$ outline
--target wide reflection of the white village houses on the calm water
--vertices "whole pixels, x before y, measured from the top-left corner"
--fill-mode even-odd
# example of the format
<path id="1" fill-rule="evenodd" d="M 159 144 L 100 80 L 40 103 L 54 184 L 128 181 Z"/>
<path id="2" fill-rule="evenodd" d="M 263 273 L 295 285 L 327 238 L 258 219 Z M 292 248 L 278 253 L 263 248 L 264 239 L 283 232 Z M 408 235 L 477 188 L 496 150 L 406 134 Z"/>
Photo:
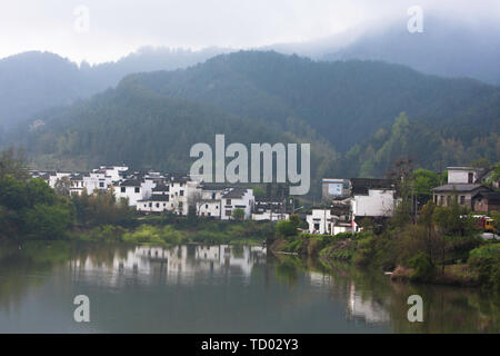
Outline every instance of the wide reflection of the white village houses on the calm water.
<path id="1" fill-rule="evenodd" d="M 146 284 L 193 284 L 203 275 L 228 274 L 249 283 L 252 268 L 266 264 L 266 248 L 260 246 L 139 246 L 111 253 L 106 260 L 91 256 L 72 259 L 68 267 L 77 280 L 106 275 L 102 283 L 111 286 L 130 279 Z"/>

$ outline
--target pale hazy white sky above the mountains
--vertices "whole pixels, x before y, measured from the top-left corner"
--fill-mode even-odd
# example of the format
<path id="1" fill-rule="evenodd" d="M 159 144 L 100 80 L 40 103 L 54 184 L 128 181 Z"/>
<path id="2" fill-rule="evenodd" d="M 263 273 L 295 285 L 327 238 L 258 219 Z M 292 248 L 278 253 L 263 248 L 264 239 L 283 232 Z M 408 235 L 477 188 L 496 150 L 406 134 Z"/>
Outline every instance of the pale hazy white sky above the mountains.
<path id="1" fill-rule="evenodd" d="M 0 58 L 48 50 L 116 60 L 142 46 L 256 48 L 424 16 L 500 20 L 499 0 L 14 0 L 0 4 Z M 88 23 L 86 13 L 88 11 Z"/>

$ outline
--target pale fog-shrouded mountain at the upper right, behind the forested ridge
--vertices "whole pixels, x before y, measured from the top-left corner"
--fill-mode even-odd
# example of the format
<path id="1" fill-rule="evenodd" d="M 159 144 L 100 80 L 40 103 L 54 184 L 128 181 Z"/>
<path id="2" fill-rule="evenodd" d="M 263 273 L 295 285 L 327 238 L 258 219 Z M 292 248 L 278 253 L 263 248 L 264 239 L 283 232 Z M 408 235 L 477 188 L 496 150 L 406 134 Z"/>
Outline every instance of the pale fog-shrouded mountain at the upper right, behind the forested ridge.
<path id="1" fill-rule="evenodd" d="M 498 23 L 424 17 L 423 32 L 410 33 L 407 23 L 400 21 L 388 28 L 369 29 L 344 46 L 339 46 L 338 38 L 330 44 L 323 40 L 314 47 L 314 53 L 323 60 L 382 60 L 424 73 L 470 77 L 500 85 Z"/>

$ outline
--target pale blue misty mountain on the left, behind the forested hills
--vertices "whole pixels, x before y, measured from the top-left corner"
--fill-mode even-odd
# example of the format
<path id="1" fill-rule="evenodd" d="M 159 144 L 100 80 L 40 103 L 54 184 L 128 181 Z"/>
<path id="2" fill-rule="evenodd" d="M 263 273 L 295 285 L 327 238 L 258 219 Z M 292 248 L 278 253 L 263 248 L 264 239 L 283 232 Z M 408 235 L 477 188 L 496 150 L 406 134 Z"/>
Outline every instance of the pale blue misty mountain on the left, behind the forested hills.
<path id="1" fill-rule="evenodd" d="M 226 51 L 144 47 L 116 62 L 96 66 L 82 62 L 80 67 L 58 55 L 39 51 L 1 59 L 0 129 L 12 128 L 24 120 L 33 121 L 41 110 L 70 105 L 114 87 L 129 73 L 184 68 Z"/>

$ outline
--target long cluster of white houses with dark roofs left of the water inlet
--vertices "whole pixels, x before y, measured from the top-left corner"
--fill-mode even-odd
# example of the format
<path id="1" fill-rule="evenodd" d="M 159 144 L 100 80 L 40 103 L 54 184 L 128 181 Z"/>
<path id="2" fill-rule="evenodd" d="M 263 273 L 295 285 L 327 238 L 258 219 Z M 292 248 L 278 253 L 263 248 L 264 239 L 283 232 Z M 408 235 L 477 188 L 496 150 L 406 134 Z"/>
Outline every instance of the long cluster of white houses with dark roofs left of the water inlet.
<path id="1" fill-rule="evenodd" d="M 266 219 L 272 212 L 261 209 L 253 189 L 249 187 L 204 184 L 188 175 L 158 171 L 131 171 L 126 166 L 101 166 L 89 172 L 31 171 L 33 178 L 44 179 L 50 187 L 68 195 L 112 191 L 117 200 L 127 199 L 129 206 L 143 214 L 170 211 L 188 215 L 189 207 L 197 215 L 221 220 L 233 218 L 234 209 L 244 212 L 244 219 Z M 254 212 L 253 208 L 258 211 Z M 252 214 L 254 212 L 254 214 Z M 283 218 L 288 218 L 288 215 Z"/>

